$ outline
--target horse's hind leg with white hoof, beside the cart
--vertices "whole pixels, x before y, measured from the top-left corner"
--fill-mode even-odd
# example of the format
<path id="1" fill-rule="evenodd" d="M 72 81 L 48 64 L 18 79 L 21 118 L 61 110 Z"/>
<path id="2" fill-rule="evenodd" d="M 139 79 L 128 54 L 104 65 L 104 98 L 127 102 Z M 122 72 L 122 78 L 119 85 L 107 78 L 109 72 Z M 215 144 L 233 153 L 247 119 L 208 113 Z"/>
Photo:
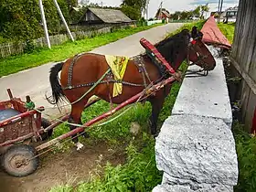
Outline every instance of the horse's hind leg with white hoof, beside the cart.
<path id="1" fill-rule="evenodd" d="M 69 123 L 77 123 L 77 124 L 81 124 L 81 121 L 80 121 L 80 116 L 81 116 L 81 112 L 83 111 L 83 108 L 84 108 L 84 105 L 82 105 L 80 102 L 78 103 L 75 103 L 72 105 L 72 108 L 71 108 L 71 113 L 69 115 L 69 120 L 68 122 Z M 75 125 L 69 125 L 69 129 L 70 131 L 76 129 L 77 127 Z M 85 135 L 86 133 L 82 133 L 83 135 Z M 80 144 L 79 142 L 79 138 L 77 136 L 77 133 L 76 134 L 73 134 L 71 136 L 72 138 L 72 142 L 74 144 L 76 144 L 77 146 L 77 150 L 80 150 L 80 148 L 83 147 L 83 144 Z"/>

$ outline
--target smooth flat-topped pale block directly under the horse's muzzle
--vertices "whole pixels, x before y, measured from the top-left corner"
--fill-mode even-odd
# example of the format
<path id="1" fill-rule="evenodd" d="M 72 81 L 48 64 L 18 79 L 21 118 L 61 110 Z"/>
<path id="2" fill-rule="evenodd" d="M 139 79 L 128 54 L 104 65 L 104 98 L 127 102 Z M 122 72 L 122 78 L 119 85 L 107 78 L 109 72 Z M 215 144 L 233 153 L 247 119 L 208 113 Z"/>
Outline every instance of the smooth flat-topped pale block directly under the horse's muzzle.
<path id="1" fill-rule="evenodd" d="M 187 76 L 183 80 L 172 115 L 192 114 L 218 118 L 231 128 L 232 112 L 223 63 L 221 59 L 216 59 L 216 63 L 216 68 L 209 71 L 208 76 Z M 190 66 L 188 69 L 196 71 L 199 68 Z"/>

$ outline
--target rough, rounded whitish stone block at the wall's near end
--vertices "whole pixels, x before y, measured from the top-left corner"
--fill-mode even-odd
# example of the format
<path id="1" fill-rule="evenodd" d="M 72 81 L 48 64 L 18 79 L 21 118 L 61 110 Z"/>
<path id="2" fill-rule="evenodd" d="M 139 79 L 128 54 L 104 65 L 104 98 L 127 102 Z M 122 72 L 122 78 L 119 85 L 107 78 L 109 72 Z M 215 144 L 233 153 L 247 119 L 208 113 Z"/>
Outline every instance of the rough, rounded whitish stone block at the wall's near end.
<path id="1" fill-rule="evenodd" d="M 238 163 L 231 131 L 221 119 L 172 115 L 156 137 L 155 159 L 172 185 L 236 186 Z"/>

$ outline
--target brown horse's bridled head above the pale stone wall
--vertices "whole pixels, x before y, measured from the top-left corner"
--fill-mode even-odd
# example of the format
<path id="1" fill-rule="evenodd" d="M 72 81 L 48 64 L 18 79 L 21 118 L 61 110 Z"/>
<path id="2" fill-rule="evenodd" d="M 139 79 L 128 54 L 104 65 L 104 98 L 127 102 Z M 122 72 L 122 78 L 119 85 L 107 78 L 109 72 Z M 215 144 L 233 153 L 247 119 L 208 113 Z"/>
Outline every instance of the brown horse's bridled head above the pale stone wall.
<path id="1" fill-rule="evenodd" d="M 213 70 L 216 66 L 216 61 L 212 54 L 202 42 L 203 33 L 197 30 L 197 27 L 192 27 L 189 34 L 187 59 L 192 61 L 192 64 L 203 68 L 204 70 Z"/>

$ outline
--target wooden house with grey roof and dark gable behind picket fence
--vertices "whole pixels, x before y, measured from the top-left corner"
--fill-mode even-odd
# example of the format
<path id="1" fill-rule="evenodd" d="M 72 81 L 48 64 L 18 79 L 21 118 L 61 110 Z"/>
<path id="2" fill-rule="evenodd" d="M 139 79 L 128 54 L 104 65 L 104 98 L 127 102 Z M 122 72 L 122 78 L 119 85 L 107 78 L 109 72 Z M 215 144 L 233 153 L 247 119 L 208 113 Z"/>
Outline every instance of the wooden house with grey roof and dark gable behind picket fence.
<path id="1" fill-rule="evenodd" d="M 131 22 L 131 18 L 125 16 L 120 10 L 89 7 L 84 15 L 80 17 L 79 24 L 119 24 Z"/>

